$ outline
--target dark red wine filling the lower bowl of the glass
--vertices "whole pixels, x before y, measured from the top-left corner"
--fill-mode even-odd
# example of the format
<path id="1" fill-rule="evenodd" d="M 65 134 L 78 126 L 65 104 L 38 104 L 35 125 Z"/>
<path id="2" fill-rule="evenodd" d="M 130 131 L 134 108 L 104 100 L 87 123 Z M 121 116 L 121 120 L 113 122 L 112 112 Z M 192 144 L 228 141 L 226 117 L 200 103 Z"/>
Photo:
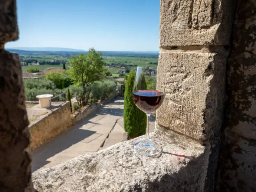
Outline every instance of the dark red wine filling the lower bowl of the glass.
<path id="1" fill-rule="evenodd" d="M 135 105 L 145 113 L 152 113 L 160 107 L 164 93 L 158 90 L 137 90 L 133 92 Z"/>

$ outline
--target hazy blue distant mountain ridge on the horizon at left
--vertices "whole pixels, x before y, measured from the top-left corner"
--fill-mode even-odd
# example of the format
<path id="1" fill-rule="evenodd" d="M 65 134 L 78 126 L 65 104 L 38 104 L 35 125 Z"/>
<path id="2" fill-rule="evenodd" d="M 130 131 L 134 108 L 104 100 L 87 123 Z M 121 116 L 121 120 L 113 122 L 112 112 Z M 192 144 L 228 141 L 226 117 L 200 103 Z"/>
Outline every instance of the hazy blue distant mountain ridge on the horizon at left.
<path id="1" fill-rule="evenodd" d="M 7 50 L 23 50 L 23 51 L 50 51 L 50 52 L 84 52 L 82 49 L 70 49 L 61 47 L 12 47 Z"/>

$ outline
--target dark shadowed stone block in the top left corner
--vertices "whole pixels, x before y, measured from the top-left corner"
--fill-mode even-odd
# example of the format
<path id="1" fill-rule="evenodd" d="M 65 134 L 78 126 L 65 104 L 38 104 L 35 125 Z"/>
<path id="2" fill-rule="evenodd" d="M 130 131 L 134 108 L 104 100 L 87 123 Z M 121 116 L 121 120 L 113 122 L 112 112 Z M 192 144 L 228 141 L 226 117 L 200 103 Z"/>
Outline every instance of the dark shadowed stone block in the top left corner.
<path id="1" fill-rule="evenodd" d="M 16 0 L 1 0 L 0 2 L 0 44 L 19 38 Z"/>

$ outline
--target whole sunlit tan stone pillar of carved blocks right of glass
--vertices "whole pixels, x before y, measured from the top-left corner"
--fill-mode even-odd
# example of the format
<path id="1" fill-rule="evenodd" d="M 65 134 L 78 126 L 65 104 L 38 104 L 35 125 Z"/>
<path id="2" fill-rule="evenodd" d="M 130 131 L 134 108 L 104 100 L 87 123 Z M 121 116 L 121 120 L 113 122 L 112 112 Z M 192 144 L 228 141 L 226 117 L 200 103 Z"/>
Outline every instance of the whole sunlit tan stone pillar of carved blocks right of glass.
<path id="1" fill-rule="evenodd" d="M 200 181 L 207 192 L 214 191 L 233 7 L 232 0 L 161 0 L 157 87 L 165 100 L 156 131 L 209 149 Z"/>

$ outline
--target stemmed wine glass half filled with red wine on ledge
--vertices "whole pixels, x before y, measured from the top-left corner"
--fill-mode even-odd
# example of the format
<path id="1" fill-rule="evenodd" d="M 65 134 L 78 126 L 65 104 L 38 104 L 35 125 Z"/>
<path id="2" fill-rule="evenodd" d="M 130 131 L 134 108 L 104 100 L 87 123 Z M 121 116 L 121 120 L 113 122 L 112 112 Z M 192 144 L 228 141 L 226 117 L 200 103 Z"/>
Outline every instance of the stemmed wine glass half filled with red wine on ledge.
<path id="1" fill-rule="evenodd" d="M 157 69 L 155 67 L 138 66 L 133 86 L 133 100 L 135 105 L 147 115 L 147 136 L 145 140 L 134 144 L 136 153 L 143 156 L 160 155 L 162 148 L 149 138 L 150 114 L 163 103 L 164 92 L 156 89 Z"/>

